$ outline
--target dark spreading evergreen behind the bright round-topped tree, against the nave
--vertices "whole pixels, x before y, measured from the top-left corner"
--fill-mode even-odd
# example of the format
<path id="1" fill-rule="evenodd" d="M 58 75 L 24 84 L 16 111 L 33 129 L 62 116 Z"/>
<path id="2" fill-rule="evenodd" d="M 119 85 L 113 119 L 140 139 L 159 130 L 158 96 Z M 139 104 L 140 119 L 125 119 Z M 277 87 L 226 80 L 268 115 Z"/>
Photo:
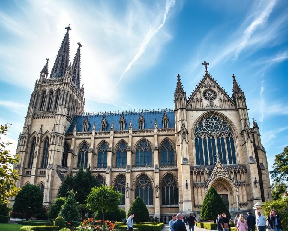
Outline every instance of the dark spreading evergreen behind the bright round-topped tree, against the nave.
<path id="1" fill-rule="evenodd" d="M 80 168 L 75 176 L 68 174 L 58 190 L 58 196 L 67 197 L 70 190 L 76 192 L 75 199 L 80 204 L 86 204 L 86 198 L 91 188 L 99 186 L 99 183 L 92 174 L 90 167 Z"/>

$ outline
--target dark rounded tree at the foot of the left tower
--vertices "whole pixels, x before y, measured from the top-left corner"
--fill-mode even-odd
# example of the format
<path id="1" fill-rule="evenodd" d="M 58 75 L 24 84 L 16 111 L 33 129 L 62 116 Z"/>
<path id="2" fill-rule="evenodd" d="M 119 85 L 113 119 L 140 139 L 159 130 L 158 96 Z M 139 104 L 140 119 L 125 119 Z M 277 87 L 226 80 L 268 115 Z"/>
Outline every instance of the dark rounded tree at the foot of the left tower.
<path id="1" fill-rule="evenodd" d="M 28 220 L 32 215 L 40 212 L 43 204 L 43 193 L 34 184 L 26 184 L 15 197 L 13 212 L 26 213 Z"/>

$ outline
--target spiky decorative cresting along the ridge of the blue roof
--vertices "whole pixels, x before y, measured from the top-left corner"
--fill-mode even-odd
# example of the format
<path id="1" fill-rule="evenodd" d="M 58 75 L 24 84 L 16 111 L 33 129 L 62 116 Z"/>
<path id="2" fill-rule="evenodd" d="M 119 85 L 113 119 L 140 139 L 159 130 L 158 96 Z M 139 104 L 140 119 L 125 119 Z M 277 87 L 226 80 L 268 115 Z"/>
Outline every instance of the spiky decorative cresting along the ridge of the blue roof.
<path id="1" fill-rule="evenodd" d="M 81 114 L 76 114 L 75 116 L 103 116 L 103 115 L 121 115 L 123 114 L 135 114 L 135 113 L 161 113 L 161 112 L 174 112 L 173 108 L 166 109 L 137 109 L 137 110 L 121 110 L 121 111 L 103 111 L 103 112 L 86 112 Z"/>

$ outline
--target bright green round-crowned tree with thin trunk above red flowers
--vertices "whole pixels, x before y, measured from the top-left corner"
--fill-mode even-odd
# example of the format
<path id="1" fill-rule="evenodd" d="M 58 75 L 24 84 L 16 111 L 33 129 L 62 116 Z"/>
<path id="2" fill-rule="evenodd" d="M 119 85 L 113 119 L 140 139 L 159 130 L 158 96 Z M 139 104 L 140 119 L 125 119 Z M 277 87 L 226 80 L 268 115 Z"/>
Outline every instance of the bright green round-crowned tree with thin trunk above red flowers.
<path id="1" fill-rule="evenodd" d="M 87 205 L 91 211 L 102 212 L 103 229 L 105 230 L 105 213 L 114 212 L 121 204 L 122 194 L 111 186 L 92 188 L 87 197 Z"/>

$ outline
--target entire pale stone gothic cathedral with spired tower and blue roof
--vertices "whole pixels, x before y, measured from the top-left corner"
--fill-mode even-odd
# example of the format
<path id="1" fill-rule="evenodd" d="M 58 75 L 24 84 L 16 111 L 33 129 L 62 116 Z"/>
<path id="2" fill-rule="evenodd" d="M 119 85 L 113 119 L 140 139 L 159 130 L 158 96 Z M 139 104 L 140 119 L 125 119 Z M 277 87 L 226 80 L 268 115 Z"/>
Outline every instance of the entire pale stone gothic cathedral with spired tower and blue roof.
<path id="1" fill-rule="evenodd" d="M 250 127 L 234 74 L 232 97 L 203 62 L 188 98 L 177 75 L 174 109 L 84 113 L 82 45 L 71 64 L 65 29 L 51 74 L 47 59 L 31 95 L 16 151 L 18 187 L 39 186 L 51 204 L 67 174 L 90 166 L 99 183 L 122 193 L 126 212 L 140 196 L 151 216 L 193 212 L 199 219 L 211 186 L 231 215 L 272 199 L 259 128 L 254 118 Z"/>

